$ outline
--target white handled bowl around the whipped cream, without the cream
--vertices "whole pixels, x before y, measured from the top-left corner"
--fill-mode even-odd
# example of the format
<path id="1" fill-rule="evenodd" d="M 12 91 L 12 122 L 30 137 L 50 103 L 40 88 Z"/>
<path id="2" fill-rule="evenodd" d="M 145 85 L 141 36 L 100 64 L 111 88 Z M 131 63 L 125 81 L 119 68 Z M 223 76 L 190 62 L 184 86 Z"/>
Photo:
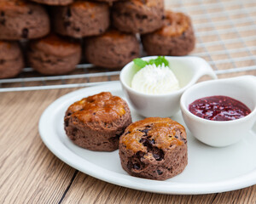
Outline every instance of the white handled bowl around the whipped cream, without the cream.
<path id="1" fill-rule="evenodd" d="M 155 59 L 145 57 L 143 60 Z M 202 76 L 217 78 L 207 61 L 198 57 L 167 57 L 172 71 L 180 83 L 181 89 L 170 94 L 143 94 L 131 88 L 131 80 L 136 74 L 134 63 L 131 62 L 122 69 L 120 82 L 131 105 L 142 116 L 173 116 L 179 111 L 179 100 L 183 92 L 191 87 Z"/>

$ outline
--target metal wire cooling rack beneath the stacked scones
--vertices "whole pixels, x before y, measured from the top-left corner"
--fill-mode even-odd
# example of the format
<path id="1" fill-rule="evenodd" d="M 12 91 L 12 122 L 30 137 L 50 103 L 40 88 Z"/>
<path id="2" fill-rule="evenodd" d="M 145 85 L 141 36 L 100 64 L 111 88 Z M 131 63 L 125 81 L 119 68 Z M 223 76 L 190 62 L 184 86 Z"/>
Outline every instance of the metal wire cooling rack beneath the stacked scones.
<path id="1" fill-rule="evenodd" d="M 219 77 L 256 75 L 256 1 L 166 0 L 166 8 L 191 16 L 197 44 L 190 55 L 206 59 Z M 25 68 L 19 77 L 0 80 L 0 92 L 89 87 L 114 80 L 119 80 L 119 71 L 90 64 L 54 77 Z"/>

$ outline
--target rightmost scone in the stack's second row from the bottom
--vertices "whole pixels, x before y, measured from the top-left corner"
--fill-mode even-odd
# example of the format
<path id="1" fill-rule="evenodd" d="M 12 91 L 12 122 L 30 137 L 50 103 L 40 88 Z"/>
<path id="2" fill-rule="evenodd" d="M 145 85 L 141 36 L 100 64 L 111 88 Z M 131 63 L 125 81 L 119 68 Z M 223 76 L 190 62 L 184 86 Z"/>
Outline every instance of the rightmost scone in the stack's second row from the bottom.
<path id="1" fill-rule="evenodd" d="M 148 33 L 164 25 L 163 0 L 130 0 L 113 3 L 113 26 L 119 31 Z"/>

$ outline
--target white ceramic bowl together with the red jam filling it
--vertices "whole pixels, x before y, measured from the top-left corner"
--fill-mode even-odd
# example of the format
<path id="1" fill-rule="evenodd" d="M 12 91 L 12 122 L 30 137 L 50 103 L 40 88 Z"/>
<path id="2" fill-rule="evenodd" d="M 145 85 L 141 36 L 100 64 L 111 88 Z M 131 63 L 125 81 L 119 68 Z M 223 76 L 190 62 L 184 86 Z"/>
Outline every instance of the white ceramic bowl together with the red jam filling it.
<path id="1" fill-rule="evenodd" d="M 200 82 L 183 93 L 180 107 L 196 139 L 217 147 L 235 144 L 256 122 L 256 77 Z"/>

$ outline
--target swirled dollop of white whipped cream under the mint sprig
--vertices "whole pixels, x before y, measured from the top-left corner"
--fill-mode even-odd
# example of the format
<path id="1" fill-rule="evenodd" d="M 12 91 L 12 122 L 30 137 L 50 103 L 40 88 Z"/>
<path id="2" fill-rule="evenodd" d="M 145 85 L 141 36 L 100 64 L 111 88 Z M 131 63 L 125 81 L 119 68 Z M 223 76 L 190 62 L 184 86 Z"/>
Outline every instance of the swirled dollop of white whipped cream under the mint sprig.
<path id="1" fill-rule="evenodd" d="M 164 64 L 146 65 L 132 78 L 131 88 L 144 94 L 168 94 L 180 89 L 177 77 Z"/>

